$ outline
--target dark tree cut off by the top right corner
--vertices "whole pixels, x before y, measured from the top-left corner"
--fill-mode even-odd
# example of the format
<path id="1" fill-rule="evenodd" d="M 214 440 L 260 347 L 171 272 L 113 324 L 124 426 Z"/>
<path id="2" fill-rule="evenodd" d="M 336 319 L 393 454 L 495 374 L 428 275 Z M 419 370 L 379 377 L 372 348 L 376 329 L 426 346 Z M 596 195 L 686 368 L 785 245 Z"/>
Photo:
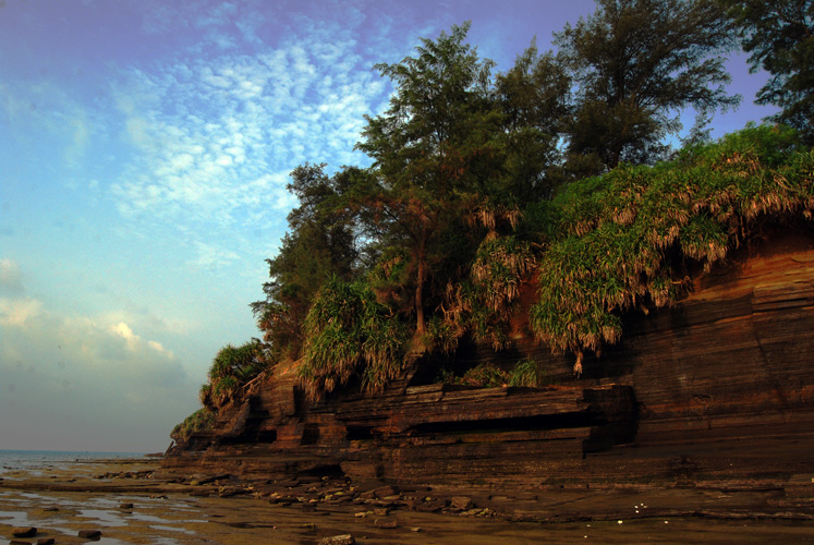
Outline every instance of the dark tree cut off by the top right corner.
<path id="1" fill-rule="evenodd" d="M 772 77 L 757 104 L 782 111 L 775 119 L 801 131 L 814 143 L 814 1 L 725 0 L 739 27 L 752 72 Z"/>

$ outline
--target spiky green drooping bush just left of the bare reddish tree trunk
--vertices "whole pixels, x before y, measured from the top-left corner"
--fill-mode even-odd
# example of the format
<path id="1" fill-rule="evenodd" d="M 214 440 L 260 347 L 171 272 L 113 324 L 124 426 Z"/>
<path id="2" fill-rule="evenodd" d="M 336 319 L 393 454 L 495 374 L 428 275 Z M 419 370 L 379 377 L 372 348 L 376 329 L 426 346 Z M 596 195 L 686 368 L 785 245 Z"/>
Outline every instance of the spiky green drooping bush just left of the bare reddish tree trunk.
<path id="1" fill-rule="evenodd" d="M 325 282 L 304 329 L 297 375 L 312 398 L 354 376 L 361 376 L 364 390 L 379 392 L 402 371 L 408 329 L 364 282 L 336 277 Z"/>

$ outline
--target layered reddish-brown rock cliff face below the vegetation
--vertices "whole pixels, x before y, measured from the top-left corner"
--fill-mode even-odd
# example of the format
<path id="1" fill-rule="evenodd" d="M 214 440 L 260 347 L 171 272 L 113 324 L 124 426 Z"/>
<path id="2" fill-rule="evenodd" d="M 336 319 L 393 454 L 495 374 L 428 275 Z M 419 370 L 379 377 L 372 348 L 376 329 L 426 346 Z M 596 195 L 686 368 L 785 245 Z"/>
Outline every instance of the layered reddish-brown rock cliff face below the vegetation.
<path id="1" fill-rule="evenodd" d="M 427 384 L 439 361 L 425 359 L 384 396 L 309 403 L 280 373 L 222 411 L 216 433 L 171 448 L 165 468 L 507 494 L 563 483 L 788 483 L 812 471 L 811 230 L 736 252 L 673 307 L 627 316 L 624 331 L 583 363 L 581 378 L 529 336 L 505 352 L 455 354 L 458 366 L 544 361 L 557 385 L 540 389 Z"/>

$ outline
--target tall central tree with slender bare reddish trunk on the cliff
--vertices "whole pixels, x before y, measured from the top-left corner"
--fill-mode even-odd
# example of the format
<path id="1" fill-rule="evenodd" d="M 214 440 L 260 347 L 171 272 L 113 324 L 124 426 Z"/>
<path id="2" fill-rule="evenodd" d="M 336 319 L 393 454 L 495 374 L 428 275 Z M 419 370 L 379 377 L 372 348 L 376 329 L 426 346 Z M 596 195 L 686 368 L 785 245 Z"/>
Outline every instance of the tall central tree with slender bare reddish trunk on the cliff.
<path id="1" fill-rule="evenodd" d="M 356 185 L 356 203 L 379 226 L 386 245 L 409 249 L 420 334 L 430 262 L 442 254 L 435 243 L 499 168 L 491 142 L 500 121 L 490 92 L 493 62 L 464 44 L 469 27 L 422 39 L 416 57 L 375 66 L 396 84 L 396 94 L 384 114 L 367 118 L 356 146 L 374 160 Z"/>

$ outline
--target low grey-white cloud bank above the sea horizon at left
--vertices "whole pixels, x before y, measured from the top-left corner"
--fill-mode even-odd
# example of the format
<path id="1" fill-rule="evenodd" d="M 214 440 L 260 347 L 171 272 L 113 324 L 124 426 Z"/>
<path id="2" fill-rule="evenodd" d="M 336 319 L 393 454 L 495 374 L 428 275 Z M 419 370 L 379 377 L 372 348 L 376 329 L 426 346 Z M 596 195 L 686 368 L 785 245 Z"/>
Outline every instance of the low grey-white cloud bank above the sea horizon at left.
<path id="1" fill-rule="evenodd" d="M 23 448 L 157 450 L 197 404 L 181 362 L 123 320 L 0 299 L 0 435 Z"/>

